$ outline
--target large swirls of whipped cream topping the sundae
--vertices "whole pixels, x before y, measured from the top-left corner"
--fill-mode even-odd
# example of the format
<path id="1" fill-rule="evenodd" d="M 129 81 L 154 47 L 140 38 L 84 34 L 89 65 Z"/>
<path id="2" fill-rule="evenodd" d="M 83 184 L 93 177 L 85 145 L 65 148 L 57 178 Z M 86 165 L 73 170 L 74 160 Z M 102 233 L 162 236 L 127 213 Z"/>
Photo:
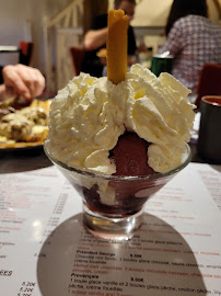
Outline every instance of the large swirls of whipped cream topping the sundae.
<path id="1" fill-rule="evenodd" d="M 53 100 L 47 147 L 70 167 L 113 174 L 109 151 L 126 130 L 135 132 L 150 144 L 148 164 L 167 172 L 182 163 L 190 139 L 195 105 L 189 93 L 171 75 L 156 78 L 140 65 L 118 84 L 81 73 Z"/>

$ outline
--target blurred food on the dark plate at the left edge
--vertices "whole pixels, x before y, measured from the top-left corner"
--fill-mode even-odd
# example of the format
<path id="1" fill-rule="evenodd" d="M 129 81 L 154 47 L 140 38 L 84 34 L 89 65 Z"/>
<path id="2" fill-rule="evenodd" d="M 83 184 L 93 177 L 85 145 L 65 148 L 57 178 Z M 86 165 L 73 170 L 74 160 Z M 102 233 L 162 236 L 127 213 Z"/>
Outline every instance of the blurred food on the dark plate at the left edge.
<path id="1" fill-rule="evenodd" d="M 48 135 L 51 100 L 14 98 L 0 103 L 0 151 L 42 147 Z"/>

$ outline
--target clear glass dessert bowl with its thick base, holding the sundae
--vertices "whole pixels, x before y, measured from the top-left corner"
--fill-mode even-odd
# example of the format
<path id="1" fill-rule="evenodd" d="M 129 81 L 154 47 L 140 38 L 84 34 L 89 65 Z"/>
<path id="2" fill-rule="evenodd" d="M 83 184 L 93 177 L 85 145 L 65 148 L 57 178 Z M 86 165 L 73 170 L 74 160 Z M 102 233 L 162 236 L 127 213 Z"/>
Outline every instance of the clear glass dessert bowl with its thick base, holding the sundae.
<path id="1" fill-rule="evenodd" d="M 130 239 L 142 224 L 143 205 L 190 161 L 186 145 L 183 163 L 166 173 L 141 177 L 102 175 L 68 167 L 45 152 L 77 189 L 83 200 L 83 223 L 94 236 L 109 240 Z"/>

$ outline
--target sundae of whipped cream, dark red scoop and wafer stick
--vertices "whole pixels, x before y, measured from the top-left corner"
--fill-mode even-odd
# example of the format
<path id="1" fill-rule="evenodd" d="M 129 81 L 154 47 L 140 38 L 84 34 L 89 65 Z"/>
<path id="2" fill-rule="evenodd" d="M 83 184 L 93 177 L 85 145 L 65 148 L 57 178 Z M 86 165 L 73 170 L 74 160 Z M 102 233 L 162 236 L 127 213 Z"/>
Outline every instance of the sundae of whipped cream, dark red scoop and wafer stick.
<path id="1" fill-rule="evenodd" d="M 127 72 L 126 18 L 109 12 L 107 77 L 81 72 L 53 100 L 45 144 L 83 195 L 88 216 L 107 219 L 139 213 L 188 163 L 195 116 L 190 91 L 171 75 L 158 78 L 140 65 Z"/>

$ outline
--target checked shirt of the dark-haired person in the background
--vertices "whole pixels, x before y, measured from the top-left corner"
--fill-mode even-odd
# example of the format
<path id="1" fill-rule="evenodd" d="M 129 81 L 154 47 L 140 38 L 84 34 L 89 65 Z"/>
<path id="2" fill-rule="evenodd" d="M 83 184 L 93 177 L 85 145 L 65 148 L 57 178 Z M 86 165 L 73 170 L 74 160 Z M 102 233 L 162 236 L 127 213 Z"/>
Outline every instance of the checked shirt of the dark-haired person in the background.
<path id="1" fill-rule="evenodd" d="M 200 15 L 181 18 L 159 53 L 166 50 L 174 56 L 172 75 L 195 92 L 202 65 L 221 64 L 221 25 Z"/>

